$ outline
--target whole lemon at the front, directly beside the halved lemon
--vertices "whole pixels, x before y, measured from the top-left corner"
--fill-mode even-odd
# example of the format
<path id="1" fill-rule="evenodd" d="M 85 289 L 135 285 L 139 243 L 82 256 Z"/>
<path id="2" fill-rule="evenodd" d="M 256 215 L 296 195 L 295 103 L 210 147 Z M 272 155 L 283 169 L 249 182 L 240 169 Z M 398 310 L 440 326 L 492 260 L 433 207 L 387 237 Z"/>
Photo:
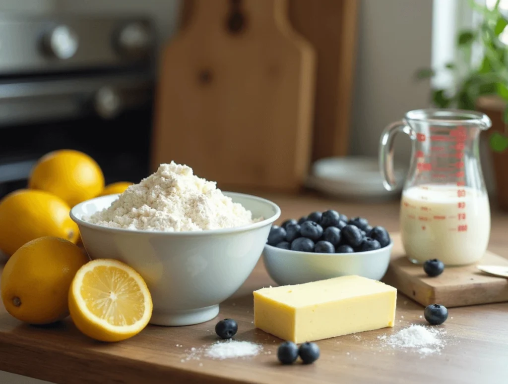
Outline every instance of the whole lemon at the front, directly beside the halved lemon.
<path id="1" fill-rule="evenodd" d="M 49 324 L 67 317 L 69 288 L 87 261 L 84 251 L 58 237 L 27 242 L 2 272 L 0 290 L 7 311 L 30 324 Z"/>

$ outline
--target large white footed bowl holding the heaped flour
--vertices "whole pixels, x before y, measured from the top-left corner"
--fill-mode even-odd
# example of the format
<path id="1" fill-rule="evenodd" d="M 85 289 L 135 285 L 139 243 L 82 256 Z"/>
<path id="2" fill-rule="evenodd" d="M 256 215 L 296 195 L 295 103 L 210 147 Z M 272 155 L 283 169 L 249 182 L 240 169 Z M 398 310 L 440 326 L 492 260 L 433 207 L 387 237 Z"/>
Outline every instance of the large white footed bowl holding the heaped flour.
<path id="1" fill-rule="evenodd" d="M 118 195 L 82 202 L 72 208 L 71 218 L 92 259 L 117 259 L 143 276 L 152 295 L 151 324 L 198 324 L 217 316 L 219 303 L 245 282 L 263 252 L 271 224 L 280 216 L 280 208 L 271 201 L 224 194 L 265 220 L 192 232 L 108 228 L 82 220 L 110 206 Z"/>

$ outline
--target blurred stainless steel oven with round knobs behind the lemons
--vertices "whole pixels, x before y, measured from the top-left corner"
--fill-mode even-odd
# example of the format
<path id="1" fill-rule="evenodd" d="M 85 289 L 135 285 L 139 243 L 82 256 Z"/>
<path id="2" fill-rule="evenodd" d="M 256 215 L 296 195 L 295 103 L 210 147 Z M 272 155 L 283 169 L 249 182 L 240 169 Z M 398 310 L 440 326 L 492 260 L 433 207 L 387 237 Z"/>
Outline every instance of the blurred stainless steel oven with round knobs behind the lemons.
<path id="1" fill-rule="evenodd" d="M 143 17 L 0 13 L 0 196 L 56 149 L 89 154 L 107 183 L 145 177 L 154 47 Z"/>

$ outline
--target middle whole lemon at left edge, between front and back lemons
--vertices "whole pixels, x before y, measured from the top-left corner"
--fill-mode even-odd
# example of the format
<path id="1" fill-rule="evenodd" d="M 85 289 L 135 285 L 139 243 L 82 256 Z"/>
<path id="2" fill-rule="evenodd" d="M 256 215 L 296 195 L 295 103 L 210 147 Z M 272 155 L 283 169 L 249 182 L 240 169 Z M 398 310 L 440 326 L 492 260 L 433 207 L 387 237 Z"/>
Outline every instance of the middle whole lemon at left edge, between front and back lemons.
<path id="1" fill-rule="evenodd" d="M 12 255 L 25 242 L 56 236 L 76 243 L 78 226 L 69 205 L 44 191 L 21 189 L 0 200 L 0 249 Z"/>

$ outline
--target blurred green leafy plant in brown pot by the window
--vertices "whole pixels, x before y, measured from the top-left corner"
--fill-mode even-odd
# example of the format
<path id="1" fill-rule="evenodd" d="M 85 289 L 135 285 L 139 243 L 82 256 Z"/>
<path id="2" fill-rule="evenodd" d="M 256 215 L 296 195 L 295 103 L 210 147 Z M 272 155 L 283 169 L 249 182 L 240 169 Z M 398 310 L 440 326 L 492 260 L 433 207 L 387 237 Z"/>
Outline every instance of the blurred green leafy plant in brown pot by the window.
<path id="1" fill-rule="evenodd" d="M 499 205 L 508 210 L 508 46 L 500 40 L 508 25 L 499 8 L 492 9 L 469 0 L 470 7 L 482 15 L 474 29 L 462 30 L 457 36 L 458 59 L 443 68 L 422 68 L 418 79 L 428 79 L 436 71 L 450 71 L 456 80 L 454 89 L 433 89 L 432 103 L 438 108 L 479 110 L 492 120 L 488 131 L 489 146 L 496 179 Z M 480 46 L 483 57 L 479 65 L 471 63 L 474 46 Z"/>

